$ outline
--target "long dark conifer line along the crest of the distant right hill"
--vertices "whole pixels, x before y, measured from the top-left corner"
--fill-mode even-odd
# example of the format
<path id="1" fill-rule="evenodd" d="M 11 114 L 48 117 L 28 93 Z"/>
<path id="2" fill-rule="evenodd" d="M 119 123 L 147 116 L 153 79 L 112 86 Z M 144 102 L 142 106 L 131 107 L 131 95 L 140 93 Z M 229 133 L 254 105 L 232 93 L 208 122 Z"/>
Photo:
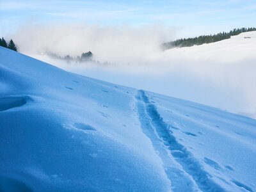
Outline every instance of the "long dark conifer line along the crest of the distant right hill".
<path id="1" fill-rule="evenodd" d="M 256 31 L 256 28 L 240 28 L 233 29 L 228 33 L 218 33 L 214 35 L 202 35 L 195 38 L 180 38 L 173 42 L 166 42 L 163 44 L 164 49 L 172 49 L 173 47 L 191 47 L 193 45 L 210 44 L 230 38 L 230 36 L 239 35 L 243 32 Z"/>

